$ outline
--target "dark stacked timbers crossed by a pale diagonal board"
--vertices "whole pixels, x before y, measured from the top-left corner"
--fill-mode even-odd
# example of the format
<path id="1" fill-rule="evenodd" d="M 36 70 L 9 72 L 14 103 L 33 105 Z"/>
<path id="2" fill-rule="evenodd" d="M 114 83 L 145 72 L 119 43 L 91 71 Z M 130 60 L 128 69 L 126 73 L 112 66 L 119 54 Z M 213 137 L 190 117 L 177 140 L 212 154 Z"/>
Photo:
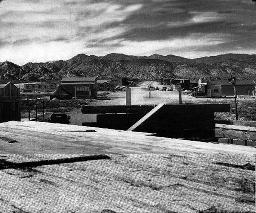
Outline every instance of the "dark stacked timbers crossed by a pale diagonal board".
<path id="1" fill-rule="evenodd" d="M 214 138 L 214 113 L 229 112 L 230 105 L 84 106 L 81 111 L 84 114 L 98 114 L 97 122 L 83 123 L 83 126 L 116 130 L 132 129 L 136 132 L 151 132 L 170 138 Z"/>

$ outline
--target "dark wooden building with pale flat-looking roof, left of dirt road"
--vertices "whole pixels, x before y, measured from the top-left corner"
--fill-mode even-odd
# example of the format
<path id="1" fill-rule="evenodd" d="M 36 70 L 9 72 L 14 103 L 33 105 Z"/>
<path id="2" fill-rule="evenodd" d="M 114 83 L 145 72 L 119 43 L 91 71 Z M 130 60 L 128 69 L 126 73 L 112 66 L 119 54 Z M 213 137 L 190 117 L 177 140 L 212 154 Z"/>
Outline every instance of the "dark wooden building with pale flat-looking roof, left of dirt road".
<path id="1" fill-rule="evenodd" d="M 61 88 L 69 98 L 97 98 L 97 80 L 92 78 L 62 78 Z"/>

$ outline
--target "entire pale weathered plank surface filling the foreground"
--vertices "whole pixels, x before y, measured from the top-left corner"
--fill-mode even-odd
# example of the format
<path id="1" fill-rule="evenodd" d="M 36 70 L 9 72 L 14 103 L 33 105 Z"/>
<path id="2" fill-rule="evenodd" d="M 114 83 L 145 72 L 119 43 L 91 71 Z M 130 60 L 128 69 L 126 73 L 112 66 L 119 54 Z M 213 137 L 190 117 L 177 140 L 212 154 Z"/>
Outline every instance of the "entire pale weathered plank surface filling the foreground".
<path id="1" fill-rule="evenodd" d="M 0 170 L 0 212 L 255 212 L 252 147 L 34 121 L 2 123 L 0 137 L 17 140 L 0 139 L 0 165 L 111 157 Z"/>

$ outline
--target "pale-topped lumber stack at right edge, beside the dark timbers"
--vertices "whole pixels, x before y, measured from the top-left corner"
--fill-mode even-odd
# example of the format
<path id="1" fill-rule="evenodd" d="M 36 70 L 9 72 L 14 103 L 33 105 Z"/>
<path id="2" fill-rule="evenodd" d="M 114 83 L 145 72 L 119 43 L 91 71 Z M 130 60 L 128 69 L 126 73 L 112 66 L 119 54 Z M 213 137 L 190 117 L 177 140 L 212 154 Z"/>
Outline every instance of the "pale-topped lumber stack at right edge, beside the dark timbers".
<path id="1" fill-rule="evenodd" d="M 215 137 L 220 143 L 256 147 L 256 127 L 216 124 Z"/>

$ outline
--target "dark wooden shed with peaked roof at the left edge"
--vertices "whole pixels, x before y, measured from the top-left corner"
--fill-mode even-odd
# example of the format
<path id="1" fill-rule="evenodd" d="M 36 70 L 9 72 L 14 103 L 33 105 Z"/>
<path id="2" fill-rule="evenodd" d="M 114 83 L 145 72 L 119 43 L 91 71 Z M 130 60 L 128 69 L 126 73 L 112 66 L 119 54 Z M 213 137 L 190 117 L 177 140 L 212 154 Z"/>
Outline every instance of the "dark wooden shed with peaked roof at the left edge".
<path id="1" fill-rule="evenodd" d="M 12 82 L 0 84 L 0 122 L 20 121 L 20 89 Z"/>

